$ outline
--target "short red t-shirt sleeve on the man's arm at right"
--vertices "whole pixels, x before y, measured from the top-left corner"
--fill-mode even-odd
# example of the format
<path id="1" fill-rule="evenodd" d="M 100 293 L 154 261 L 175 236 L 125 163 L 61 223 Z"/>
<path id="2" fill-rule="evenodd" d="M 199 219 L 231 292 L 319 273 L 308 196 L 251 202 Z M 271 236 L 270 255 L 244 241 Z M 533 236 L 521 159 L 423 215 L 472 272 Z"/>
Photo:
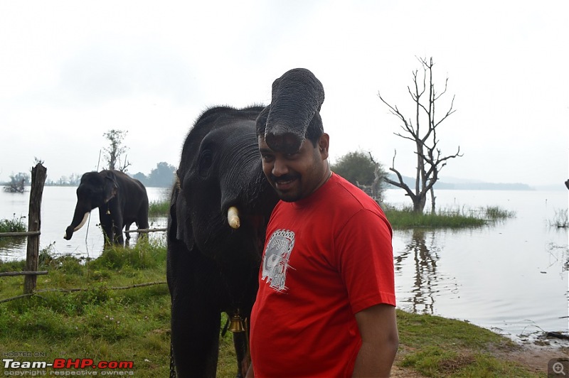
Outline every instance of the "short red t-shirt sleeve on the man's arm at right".
<path id="1" fill-rule="evenodd" d="M 395 306 L 391 231 L 380 215 L 364 209 L 356 212 L 341 227 L 335 249 L 354 314 L 380 303 Z"/>

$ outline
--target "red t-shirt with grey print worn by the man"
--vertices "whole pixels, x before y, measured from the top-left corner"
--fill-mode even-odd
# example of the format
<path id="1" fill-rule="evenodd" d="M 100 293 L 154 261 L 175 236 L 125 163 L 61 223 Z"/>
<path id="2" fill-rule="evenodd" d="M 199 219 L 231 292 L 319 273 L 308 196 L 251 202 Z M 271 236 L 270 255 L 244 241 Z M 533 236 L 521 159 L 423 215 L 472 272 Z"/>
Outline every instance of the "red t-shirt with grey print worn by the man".
<path id="1" fill-rule="evenodd" d="M 339 175 L 280 201 L 267 227 L 251 314 L 255 377 L 349 377 L 355 313 L 395 306 L 392 231 L 381 208 Z"/>

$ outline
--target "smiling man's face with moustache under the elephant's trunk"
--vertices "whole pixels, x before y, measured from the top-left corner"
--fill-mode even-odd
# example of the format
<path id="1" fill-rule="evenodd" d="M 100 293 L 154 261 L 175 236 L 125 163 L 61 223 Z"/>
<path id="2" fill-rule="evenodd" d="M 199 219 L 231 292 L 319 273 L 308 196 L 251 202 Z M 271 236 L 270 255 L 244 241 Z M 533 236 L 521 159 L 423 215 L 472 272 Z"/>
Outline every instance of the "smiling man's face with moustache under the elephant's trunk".
<path id="1" fill-rule="evenodd" d="M 259 136 L 262 170 L 281 200 L 294 202 L 310 195 L 328 178 L 328 135 L 317 146 L 304 139 L 294 152 L 273 151 Z"/>

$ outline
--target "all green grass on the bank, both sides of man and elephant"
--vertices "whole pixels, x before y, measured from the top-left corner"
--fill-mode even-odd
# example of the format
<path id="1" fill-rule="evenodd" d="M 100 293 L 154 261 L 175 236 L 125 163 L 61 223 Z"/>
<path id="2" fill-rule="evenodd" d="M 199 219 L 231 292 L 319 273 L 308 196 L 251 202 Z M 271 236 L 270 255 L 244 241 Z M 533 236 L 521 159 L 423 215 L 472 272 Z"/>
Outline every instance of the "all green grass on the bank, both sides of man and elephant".
<path id="1" fill-rule="evenodd" d="M 39 352 L 45 356 L 36 360 L 46 362 L 133 361 L 136 377 L 168 376 L 170 299 L 161 242 L 108 249 L 92 261 L 44 251 L 40 264 L 49 274 L 38 276 L 36 295 L 0 303 L 0 352 Z M 22 268 L 22 261 L 0 264 L 0 271 Z M 137 287 L 141 284 L 150 285 Z M 22 276 L 0 278 L 0 301 L 22 290 Z M 516 346 L 489 330 L 403 311 L 398 325 L 396 365 L 402 368 L 430 377 L 536 376 L 494 357 L 491 351 Z M 218 377 L 235 376 L 234 359 L 228 333 L 220 337 Z"/>

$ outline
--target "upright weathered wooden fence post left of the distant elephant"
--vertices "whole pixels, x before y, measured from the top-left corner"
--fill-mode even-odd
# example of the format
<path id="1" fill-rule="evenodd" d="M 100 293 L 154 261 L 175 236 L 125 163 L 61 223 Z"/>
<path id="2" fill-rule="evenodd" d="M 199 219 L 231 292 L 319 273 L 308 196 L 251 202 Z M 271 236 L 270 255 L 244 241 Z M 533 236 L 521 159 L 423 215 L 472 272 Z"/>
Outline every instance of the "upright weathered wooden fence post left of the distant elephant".
<path id="1" fill-rule="evenodd" d="M 30 206 L 28 213 L 28 232 L 41 229 L 41 197 L 43 185 L 46 183 L 47 169 L 38 163 L 31 170 Z M 40 251 L 40 235 L 28 235 L 28 251 L 26 254 L 26 271 L 38 270 L 38 254 Z M 36 289 L 37 276 L 26 275 L 23 280 L 23 293 L 33 293 Z"/>

